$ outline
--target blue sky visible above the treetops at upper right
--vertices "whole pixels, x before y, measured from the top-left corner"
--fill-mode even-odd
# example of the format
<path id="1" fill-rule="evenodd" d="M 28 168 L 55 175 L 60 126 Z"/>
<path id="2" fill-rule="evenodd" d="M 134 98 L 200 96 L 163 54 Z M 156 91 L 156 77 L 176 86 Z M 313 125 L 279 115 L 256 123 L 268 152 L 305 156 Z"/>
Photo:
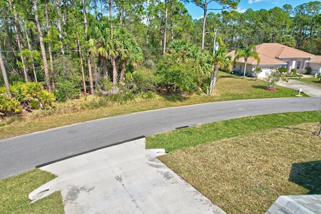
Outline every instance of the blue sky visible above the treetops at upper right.
<path id="1" fill-rule="evenodd" d="M 283 5 L 288 4 L 295 8 L 303 3 L 308 3 L 314 0 L 241 0 L 236 11 L 244 13 L 247 9 L 252 9 L 253 11 L 259 11 L 261 9 L 270 10 L 274 7 L 282 8 Z M 189 11 L 190 15 L 194 19 L 200 19 L 203 17 L 203 10 L 196 7 L 193 3 L 186 4 L 186 9 Z M 208 8 L 218 9 L 219 5 L 212 2 Z M 215 12 L 215 11 L 209 11 Z M 218 11 L 220 13 L 220 11 Z"/>

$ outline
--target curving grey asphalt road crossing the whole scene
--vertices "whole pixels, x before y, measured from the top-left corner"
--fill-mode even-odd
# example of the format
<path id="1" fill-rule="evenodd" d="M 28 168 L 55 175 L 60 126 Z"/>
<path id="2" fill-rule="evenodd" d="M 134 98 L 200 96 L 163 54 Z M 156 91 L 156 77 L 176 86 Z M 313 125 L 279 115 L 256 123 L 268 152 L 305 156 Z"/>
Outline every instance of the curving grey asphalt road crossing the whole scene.
<path id="1" fill-rule="evenodd" d="M 320 109 L 319 97 L 237 100 L 145 111 L 35 132 L 0 140 L 0 179 L 39 164 L 182 126 Z"/>

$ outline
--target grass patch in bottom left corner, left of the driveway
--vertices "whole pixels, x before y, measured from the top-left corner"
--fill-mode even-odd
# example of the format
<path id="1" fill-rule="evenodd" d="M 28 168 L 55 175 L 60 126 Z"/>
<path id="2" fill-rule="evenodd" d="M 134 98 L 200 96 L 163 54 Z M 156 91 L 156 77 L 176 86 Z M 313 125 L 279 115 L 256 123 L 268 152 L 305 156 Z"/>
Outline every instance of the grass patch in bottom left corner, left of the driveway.
<path id="1" fill-rule="evenodd" d="M 34 169 L 0 180 L 0 213 L 64 213 L 59 191 L 34 203 L 28 198 L 30 192 L 54 178 L 54 174 Z"/>

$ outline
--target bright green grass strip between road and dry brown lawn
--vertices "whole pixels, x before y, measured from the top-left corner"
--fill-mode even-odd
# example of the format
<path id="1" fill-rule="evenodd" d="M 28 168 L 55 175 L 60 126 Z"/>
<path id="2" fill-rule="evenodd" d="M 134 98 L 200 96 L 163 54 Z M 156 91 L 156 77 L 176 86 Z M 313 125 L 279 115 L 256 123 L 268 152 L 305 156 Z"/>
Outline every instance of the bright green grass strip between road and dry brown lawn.
<path id="1" fill-rule="evenodd" d="M 264 130 L 300 123 L 317 122 L 319 120 L 319 111 L 242 117 L 146 137 L 146 148 L 165 148 L 167 152 L 171 152 L 225 138 L 254 134 Z"/>

